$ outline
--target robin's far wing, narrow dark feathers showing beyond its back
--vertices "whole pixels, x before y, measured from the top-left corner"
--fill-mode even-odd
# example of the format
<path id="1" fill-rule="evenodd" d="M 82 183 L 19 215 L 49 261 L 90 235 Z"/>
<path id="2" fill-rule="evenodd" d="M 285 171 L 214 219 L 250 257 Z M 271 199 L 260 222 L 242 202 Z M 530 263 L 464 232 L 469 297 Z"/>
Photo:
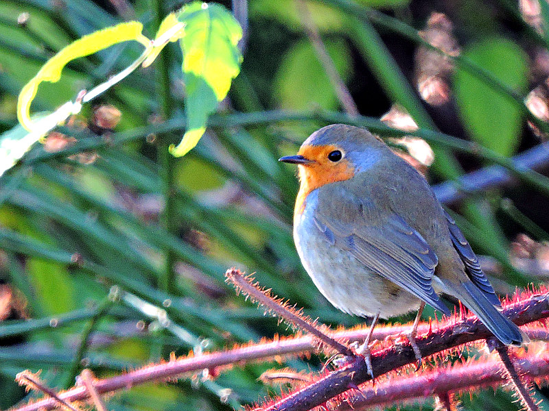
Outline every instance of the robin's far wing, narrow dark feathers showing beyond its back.
<path id="1" fill-rule="evenodd" d="M 486 275 L 482 272 L 478 258 L 476 258 L 474 251 L 471 249 L 469 242 L 456 225 L 456 221 L 444 211 L 446 219 L 448 220 L 448 228 L 450 231 L 450 236 L 452 237 L 452 242 L 454 243 L 454 248 L 458 251 L 458 254 L 465 264 L 465 269 L 471 282 L 475 284 L 482 292 L 484 296 L 487 297 L 494 306 L 501 306 L 500 299 L 495 295 L 495 292 L 488 281 Z"/>

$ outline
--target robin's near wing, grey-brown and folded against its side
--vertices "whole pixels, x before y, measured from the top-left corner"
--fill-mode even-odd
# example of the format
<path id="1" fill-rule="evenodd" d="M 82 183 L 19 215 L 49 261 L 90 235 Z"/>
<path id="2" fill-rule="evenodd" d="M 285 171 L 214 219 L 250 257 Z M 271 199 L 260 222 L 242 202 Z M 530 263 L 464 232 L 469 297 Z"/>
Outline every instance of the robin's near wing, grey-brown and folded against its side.
<path id="1" fill-rule="evenodd" d="M 367 270 L 449 314 L 432 286 L 438 259 L 419 232 L 398 214 L 382 214 L 340 185 L 323 186 L 318 195 L 325 206 L 316 208 L 314 221 L 334 247 L 347 249 Z"/>

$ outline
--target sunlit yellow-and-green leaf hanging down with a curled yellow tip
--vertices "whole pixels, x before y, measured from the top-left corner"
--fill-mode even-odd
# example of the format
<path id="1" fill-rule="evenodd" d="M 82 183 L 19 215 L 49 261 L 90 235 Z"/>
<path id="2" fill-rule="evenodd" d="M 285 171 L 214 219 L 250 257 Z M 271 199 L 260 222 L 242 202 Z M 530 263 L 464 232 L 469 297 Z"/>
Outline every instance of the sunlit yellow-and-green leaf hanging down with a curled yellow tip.
<path id="1" fill-rule="evenodd" d="M 240 73 L 242 55 L 237 43 L 242 29 L 222 5 L 191 3 L 181 9 L 178 21 L 185 24 L 180 39 L 185 80 L 187 132 L 170 152 L 180 157 L 196 146 L 206 130 L 208 115 L 229 92 L 231 80 Z"/>

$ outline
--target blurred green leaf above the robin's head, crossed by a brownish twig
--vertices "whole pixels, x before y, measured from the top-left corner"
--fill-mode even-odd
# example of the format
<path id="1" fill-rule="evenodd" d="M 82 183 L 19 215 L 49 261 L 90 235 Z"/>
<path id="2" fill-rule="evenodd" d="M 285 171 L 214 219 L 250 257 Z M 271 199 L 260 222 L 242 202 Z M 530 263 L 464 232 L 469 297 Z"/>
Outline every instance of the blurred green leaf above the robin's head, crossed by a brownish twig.
<path id="1" fill-rule="evenodd" d="M 347 79 L 352 66 L 347 45 L 343 40 L 327 40 L 325 44 L 342 79 Z M 338 105 L 334 87 L 307 40 L 297 42 L 284 56 L 274 84 L 281 108 L 307 110 L 318 105 L 334 109 Z"/>

